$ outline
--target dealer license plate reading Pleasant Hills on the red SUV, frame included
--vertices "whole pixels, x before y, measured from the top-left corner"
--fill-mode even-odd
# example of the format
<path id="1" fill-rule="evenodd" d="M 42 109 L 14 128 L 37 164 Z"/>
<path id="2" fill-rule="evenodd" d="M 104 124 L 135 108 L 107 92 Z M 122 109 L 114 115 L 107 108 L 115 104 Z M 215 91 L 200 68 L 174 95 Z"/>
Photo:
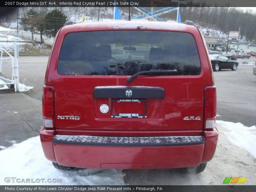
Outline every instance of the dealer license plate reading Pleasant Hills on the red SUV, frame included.
<path id="1" fill-rule="evenodd" d="M 112 118 L 147 118 L 147 100 L 111 100 Z"/>

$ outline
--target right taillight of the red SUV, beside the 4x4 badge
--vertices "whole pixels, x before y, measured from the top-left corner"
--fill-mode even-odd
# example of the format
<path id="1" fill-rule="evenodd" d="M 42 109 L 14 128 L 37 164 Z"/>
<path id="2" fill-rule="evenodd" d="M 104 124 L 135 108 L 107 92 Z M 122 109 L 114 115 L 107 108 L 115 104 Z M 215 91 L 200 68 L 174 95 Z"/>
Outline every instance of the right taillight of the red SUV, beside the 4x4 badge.
<path id="1" fill-rule="evenodd" d="M 204 88 L 204 129 L 213 129 L 216 123 L 216 87 Z"/>

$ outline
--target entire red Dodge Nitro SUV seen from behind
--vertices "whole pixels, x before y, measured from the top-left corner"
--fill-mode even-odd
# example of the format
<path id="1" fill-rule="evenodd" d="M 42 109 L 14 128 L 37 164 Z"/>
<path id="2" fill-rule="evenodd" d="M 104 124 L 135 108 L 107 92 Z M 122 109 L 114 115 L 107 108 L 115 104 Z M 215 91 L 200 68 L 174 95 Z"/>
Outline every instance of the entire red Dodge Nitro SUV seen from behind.
<path id="1" fill-rule="evenodd" d="M 218 140 L 216 88 L 204 38 L 186 23 L 68 22 L 59 30 L 40 132 L 56 168 L 204 170 Z"/>

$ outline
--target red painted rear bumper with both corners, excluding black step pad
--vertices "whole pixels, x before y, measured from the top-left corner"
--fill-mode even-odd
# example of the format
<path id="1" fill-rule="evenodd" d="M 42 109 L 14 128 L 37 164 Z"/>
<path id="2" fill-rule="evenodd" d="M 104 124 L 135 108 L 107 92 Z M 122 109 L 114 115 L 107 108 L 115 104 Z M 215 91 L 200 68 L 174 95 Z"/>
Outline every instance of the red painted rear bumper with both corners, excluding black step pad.
<path id="1" fill-rule="evenodd" d="M 60 165 L 102 169 L 151 169 L 193 167 L 212 159 L 218 132 L 204 132 L 201 145 L 172 147 L 107 147 L 55 144 L 54 131 L 40 132 L 46 158 Z M 56 157 L 56 159 L 55 159 Z"/>

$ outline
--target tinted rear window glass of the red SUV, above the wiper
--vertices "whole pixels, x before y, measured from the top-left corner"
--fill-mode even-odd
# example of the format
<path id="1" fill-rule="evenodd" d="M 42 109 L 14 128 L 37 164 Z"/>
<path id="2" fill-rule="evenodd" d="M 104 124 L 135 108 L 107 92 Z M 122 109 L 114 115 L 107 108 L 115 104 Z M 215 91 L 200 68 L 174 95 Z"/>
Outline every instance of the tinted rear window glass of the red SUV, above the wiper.
<path id="1" fill-rule="evenodd" d="M 65 36 L 58 61 L 61 75 L 133 75 L 173 70 L 198 75 L 201 65 L 194 37 L 168 31 L 89 31 Z M 166 74 L 168 75 L 168 74 Z"/>

